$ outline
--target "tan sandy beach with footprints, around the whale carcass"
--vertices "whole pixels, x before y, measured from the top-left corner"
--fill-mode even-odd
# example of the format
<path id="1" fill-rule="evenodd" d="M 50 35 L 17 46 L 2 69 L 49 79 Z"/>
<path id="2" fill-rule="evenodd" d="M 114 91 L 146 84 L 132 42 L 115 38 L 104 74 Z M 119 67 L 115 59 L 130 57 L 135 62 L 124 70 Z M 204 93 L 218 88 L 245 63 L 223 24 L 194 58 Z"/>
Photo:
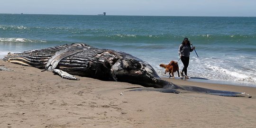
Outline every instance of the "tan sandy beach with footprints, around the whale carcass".
<path id="1" fill-rule="evenodd" d="M 252 98 L 129 91 L 140 85 L 65 80 L 0 60 L 0 128 L 255 128 L 256 88 L 165 80 Z"/>

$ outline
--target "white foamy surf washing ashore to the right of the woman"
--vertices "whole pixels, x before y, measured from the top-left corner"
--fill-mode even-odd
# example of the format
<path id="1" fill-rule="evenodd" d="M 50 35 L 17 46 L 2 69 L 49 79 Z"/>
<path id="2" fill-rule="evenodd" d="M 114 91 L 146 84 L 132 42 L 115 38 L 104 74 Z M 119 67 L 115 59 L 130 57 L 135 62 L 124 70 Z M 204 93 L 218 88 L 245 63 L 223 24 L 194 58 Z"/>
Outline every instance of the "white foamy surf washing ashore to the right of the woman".
<path id="1" fill-rule="evenodd" d="M 204 64 L 201 64 L 203 62 Z M 197 62 L 193 62 L 193 63 L 197 63 Z M 210 80 L 237 81 L 237 82 L 247 82 L 247 83 L 256 84 L 256 76 L 254 75 L 254 71 L 243 70 L 244 68 L 246 68 L 246 66 L 250 66 L 250 65 L 245 65 L 243 62 L 237 61 L 237 63 L 243 64 L 244 67 L 234 67 L 234 66 L 229 66 L 230 63 L 231 62 L 227 60 L 224 61 L 224 60 L 218 59 L 218 61 L 216 61 L 215 59 L 212 59 L 212 58 L 209 58 L 209 59 L 203 58 L 203 60 L 199 62 L 199 64 L 196 64 L 198 69 L 193 69 L 192 67 L 192 70 L 195 71 L 196 75 L 198 75 L 197 73 L 199 74 L 201 73 L 205 78 Z"/>

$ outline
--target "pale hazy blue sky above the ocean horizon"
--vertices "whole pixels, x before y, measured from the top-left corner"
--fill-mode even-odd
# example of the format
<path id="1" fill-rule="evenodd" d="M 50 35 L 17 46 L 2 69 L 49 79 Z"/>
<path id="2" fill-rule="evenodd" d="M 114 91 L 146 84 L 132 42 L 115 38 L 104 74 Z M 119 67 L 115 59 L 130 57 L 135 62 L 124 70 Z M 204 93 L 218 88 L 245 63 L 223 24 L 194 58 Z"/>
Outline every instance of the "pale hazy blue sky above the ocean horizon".
<path id="1" fill-rule="evenodd" d="M 256 0 L 0 0 L 0 13 L 256 17 Z"/>

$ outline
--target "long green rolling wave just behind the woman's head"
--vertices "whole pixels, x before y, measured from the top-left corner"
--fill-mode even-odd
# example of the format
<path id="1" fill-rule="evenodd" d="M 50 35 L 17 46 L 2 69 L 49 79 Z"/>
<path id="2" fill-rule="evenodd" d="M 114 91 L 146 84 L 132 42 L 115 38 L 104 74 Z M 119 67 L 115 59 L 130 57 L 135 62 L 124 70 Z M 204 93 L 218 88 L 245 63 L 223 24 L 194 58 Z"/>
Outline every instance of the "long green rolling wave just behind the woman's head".
<path id="1" fill-rule="evenodd" d="M 118 33 L 118 34 L 115 34 Z M 63 33 L 65 34 L 65 33 Z M 66 33 L 68 34 L 68 33 Z M 91 40 L 108 40 L 108 41 L 123 41 L 123 42 L 155 42 L 155 43 L 181 43 L 184 37 L 188 37 L 192 42 L 199 45 L 207 44 L 252 44 L 255 43 L 254 35 L 177 35 L 172 33 L 146 33 L 146 32 L 132 32 L 132 31 L 115 31 L 115 30 L 73 30 L 70 38 L 73 39 L 91 39 Z"/>

